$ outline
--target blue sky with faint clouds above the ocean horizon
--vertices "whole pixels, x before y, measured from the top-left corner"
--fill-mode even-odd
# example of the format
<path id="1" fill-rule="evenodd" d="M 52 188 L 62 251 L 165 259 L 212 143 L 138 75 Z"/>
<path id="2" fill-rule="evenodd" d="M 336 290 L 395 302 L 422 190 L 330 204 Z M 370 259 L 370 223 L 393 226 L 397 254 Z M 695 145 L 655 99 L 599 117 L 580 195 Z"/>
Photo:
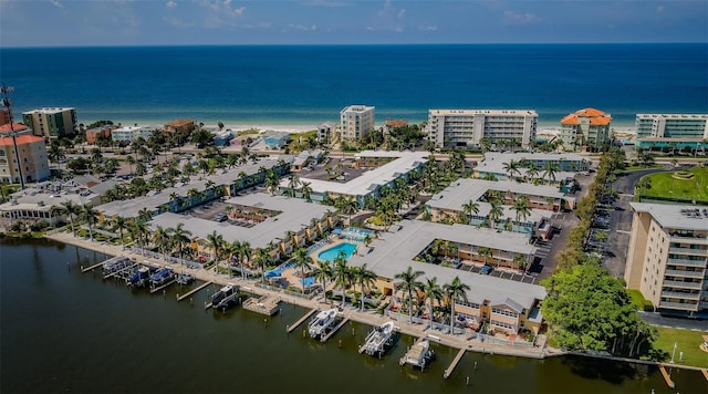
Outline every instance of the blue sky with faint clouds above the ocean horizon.
<path id="1" fill-rule="evenodd" d="M 0 46 L 708 42 L 708 0 L 0 0 Z"/>

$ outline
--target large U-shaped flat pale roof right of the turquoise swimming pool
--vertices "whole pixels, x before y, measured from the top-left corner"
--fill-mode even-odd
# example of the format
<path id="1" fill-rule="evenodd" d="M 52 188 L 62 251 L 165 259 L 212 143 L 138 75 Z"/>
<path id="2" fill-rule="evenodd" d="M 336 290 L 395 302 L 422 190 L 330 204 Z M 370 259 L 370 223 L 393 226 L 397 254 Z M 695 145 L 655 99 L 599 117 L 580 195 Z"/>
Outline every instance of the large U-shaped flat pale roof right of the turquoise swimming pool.
<path id="1" fill-rule="evenodd" d="M 477 229 L 465 225 L 439 225 L 418 220 L 403 220 L 397 232 L 382 232 L 369 247 L 365 256 L 353 255 L 350 266 L 366 267 L 384 278 L 394 278 L 408 267 L 425 272 L 424 277 L 437 277 L 438 283 L 449 283 L 459 277 L 470 287 L 467 297 L 470 301 L 490 300 L 492 304 L 506 303 L 511 299 L 524 308 L 531 308 L 535 300 L 545 298 L 545 289 L 508 279 L 482 276 L 469 271 L 415 261 L 414 258 L 433 240 L 444 239 L 454 242 L 513 251 L 523 255 L 533 253 L 535 248 L 520 234 L 499 234 L 490 229 Z"/>

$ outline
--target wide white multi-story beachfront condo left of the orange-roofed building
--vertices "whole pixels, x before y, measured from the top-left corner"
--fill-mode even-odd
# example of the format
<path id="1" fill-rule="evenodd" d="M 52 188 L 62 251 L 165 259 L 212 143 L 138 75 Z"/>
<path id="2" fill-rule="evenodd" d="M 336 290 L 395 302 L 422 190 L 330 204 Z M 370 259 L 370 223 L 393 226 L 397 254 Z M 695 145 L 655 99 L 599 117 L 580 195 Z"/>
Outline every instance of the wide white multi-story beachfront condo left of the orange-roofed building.
<path id="1" fill-rule="evenodd" d="M 538 120 L 530 110 L 430 110 L 428 139 L 436 147 L 478 147 L 482 138 L 527 147 L 535 138 Z"/>

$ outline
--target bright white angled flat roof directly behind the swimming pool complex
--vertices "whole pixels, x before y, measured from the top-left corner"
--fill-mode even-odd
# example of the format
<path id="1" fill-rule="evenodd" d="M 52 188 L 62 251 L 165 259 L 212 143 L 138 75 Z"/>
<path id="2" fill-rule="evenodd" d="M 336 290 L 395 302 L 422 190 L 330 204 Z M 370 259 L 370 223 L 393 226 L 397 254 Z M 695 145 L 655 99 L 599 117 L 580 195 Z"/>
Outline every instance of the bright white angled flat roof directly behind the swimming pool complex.
<path id="1" fill-rule="evenodd" d="M 312 178 L 300 178 L 300 182 L 310 184 L 313 193 L 335 193 L 347 196 L 365 196 L 376 188 L 377 185 L 385 185 L 403 174 L 407 174 L 428 156 L 427 152 L 386 152 L 365 151 L 358 157 L 397 157 L 391 163 L 381 167 L 367 170 L 361 176 L 346 183 L 336 183 Z M 288 179 L 280 182 L 280 187 L 288 187 Z"/>

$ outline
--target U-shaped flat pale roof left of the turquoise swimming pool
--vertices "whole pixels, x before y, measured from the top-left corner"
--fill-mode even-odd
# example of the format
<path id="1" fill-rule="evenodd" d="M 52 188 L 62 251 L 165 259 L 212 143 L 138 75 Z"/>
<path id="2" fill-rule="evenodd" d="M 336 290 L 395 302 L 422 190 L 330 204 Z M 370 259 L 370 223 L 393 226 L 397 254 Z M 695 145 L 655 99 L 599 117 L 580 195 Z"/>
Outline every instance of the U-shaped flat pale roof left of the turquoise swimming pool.
<path id="1" fill-rule="evenodd" d="M 271 196 L 262 193 L 233 197 L 228 199 L 227 203 L 279 210 L 281 214 L 270 217 L 250 228 L 231 225 L 228 221 L 217 222 L 171 212 L 154 217 L 149 225 L 153 228 L 157 226 L 175 228 L 179 224 L 184 224 L 184 228 L 191 231 L 194 237 L 207 239 L 207 236 L 217 231 L 223 237 L 223 240 L 229 243 L 239 240 L 248 241 L 251 248 L 264 248 L 271 241 L 277 242 L 277 238 L 285 238 L 288 231 L 302 231 L 303 227 L 310 226 L 310 221 L 313 218 L 321 219 L 326 216 L 331 209 L 323 205 L 306 203 L 303 199 Z"/>

